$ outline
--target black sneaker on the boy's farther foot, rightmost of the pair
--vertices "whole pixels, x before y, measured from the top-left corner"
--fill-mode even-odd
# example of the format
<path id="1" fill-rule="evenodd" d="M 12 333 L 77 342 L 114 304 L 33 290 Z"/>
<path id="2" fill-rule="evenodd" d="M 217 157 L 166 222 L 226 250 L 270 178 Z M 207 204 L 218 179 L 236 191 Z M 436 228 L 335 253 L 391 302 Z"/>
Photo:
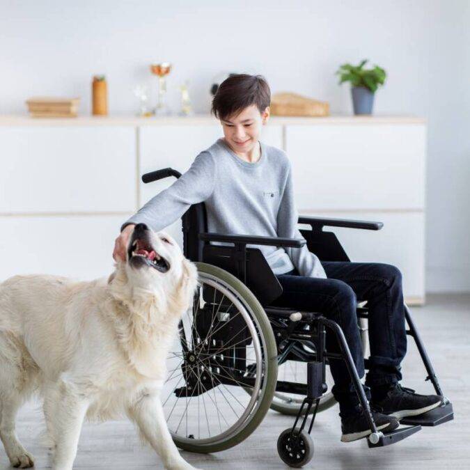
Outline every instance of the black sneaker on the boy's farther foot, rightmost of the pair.
<path id="1" fill-rule="evenodd" d="M 412 389 L 394 384 L 382 400 L 372 400 L 370 406 L 398 420 L 429 412 L 441 404 L 439 395 L 419 395 Z"/>

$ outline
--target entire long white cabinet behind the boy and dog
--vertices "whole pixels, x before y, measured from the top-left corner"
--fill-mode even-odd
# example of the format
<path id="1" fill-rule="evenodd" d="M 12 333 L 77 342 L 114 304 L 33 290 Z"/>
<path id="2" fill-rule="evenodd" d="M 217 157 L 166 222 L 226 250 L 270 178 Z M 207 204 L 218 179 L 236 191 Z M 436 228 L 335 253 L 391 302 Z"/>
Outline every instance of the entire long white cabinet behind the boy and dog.
<path id="1" fill-rule="evenodd" d="M 112 270 L 120 225 L 223 135 L 209 116 L 38 120 L 0 116 L 0 280 Z M 352 260 L 391 263 L 424 299 L 425 123 L 416 118 L 272 118 L 261 139 L 286 150 L 300 214 L 384 222 L 334 228 Z M 166 229 L 182 244 L 180 219 Z M 330 228 L 327 228 L 330 230 Z"/>

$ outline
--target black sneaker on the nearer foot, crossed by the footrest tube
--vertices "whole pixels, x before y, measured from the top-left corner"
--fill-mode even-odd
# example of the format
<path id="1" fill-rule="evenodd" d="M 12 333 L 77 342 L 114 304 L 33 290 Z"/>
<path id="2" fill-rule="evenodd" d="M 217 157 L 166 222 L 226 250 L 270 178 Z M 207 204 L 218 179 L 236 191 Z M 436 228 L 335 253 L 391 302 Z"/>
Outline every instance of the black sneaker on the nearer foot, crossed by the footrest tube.
<path id="1" fill-rule="evenodd" d="M 393 416 L 387 416 L 386 414 L 373 411 L 372 417 L 377 431 L 390 432 L 400 425 Z M 341 416 L 341 430 L 343 431 L 343 435 L 341 436 L 342 442 L 357 441 L 357 439 L 362 439 L 371 434 L 369 422 L 361 407 L 358 407 L 356 414 Z"/>

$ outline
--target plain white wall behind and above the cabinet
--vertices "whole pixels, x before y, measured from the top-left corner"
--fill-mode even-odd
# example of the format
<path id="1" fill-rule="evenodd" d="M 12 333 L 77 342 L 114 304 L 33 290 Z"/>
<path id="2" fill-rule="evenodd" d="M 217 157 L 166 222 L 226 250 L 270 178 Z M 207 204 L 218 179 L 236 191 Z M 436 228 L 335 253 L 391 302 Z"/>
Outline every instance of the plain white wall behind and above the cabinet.
<path id="1" fill-rule="evenodd" d="M 428 118 L 428 290 L 470 290 L 470 2 L 468 0 L 0 0 L 0 113 L 33 95 L 81 97 L 107 75 L 111 113 L 136 109 L 148 65 L 171 61 L 169 102 L 190 79 L 198 112 L 222 70 L 264 74 L 351 113 L 340 63 L 370 58 L 389 72 L 375 113 Z"/>

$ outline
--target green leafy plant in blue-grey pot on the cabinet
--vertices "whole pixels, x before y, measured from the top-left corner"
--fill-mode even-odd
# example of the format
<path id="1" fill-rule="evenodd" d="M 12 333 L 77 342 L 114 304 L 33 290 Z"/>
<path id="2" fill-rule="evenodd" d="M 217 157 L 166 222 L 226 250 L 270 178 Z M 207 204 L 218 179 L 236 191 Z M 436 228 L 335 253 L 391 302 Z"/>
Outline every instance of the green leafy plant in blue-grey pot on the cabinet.
<path id="1" fill-rule="evenodd" d="M 345 63 L 336 72 L 336 75 L 340 77 L 339 84 L 345 81 L 351 82 L 354 114 L 372 114 L 374 93 L 386 79 L 386 72 L 383 68 L 375 65 L 374 68 L 365 69 L 363 67 L 366 63 L 367 59 L 356 66 Z"/>

